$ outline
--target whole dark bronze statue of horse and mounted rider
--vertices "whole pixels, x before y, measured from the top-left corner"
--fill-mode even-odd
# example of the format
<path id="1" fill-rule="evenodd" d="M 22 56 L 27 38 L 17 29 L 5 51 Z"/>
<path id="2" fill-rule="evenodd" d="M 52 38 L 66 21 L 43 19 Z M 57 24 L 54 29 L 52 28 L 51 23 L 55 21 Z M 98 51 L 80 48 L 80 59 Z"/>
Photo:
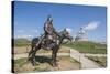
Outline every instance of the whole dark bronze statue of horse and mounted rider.
<path id="1" fill-rule="evenodd" d="M 56 57 L 61 44 L 63 43 L 64 39 L 68 39 L 69 41 L 72 41 L 73 38 L 69 35 L 66 29 L 57 33 L 53 27 L 53 19 L 51 15 L 47 17 L 47 20 L 44 23 L 44 31 L 45 33 L 41 35 L 40 39 L 32 39 L 28 61 L 31 61 L 31 63 L 35 65 L 35 54 L 38 50 L 52 50 L 52 61 L 50 62 L 50 64 L 52 66 L 57 66 Z"/>

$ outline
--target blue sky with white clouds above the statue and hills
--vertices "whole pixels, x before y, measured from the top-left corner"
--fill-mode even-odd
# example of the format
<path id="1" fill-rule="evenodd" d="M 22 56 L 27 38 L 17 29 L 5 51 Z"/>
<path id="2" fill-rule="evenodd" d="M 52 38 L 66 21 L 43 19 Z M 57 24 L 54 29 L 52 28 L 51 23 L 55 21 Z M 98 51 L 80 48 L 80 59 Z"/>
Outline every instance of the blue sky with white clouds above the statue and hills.
<path id="1" fill-rule="evenodd" d="M 67 29 L 74 38 L 84 27 L 91 41 L 107 41 L 107 8 L 98 6 L 14 1 L 14 38 L 32 39 L 44 33 L 51 14 L 56 31 Z"/>

